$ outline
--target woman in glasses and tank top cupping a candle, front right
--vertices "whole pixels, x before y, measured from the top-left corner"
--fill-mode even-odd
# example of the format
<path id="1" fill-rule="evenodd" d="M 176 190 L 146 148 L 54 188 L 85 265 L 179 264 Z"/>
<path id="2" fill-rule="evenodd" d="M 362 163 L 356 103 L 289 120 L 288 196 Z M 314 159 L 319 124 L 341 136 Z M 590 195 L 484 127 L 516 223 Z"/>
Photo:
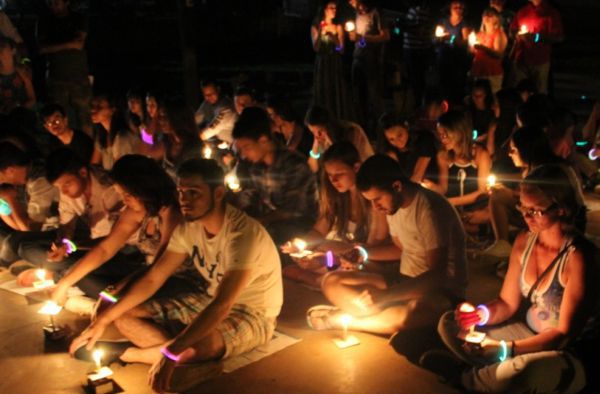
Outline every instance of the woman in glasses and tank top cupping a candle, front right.
<path id="1" fill-rule="evenodd" d="M 558 165 L 523 180 L 518 209 L 528 231 L 515 240 L 500 295 L 444 314 L 438 331 L 452 353 L 426 353 L 424 367 L 475 392 L 585 387 L 587 358 L 598 349 L 600 271 L 596 248 L 575 227 L 585 210 L 576 188 Z M 485 337 L 469 341 L 472 328 Z"/>

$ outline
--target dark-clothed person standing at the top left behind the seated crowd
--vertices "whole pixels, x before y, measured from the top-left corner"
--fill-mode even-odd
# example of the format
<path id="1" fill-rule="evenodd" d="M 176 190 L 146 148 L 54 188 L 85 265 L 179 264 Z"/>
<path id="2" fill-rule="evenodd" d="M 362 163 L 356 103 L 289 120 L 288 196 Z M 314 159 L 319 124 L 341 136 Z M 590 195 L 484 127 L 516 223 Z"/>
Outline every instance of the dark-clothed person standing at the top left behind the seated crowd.
<path id="1" fill-rule="evenodd" d="M 48 99 L 75 112 L 74 126 L 92 135 L 90 100 L 92 87 L 88 79 L 87 18 L 69 9 L 69 0 L 48 0 L 50 14 L 40 18 L 37 41 L 46 56 Z"/>

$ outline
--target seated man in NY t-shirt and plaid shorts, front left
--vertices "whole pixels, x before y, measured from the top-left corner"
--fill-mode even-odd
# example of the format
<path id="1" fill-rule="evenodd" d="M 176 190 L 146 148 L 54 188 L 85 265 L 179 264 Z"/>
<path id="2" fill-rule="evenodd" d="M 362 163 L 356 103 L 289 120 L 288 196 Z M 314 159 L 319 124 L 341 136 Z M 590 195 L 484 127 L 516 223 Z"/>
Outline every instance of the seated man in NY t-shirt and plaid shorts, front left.
<path id="1" fill-rule="evenodd" d="M 185 223 L 148 272 L 71 344 L 75 357 L 89 360 L 114 322 L 132 343 L 103 341 L 105 362 L 153 364 L 150 380 L 159 392 L 185 391 L 212 376 L 223 358 L 267 343 L 283 303 L 277 248 L 256 220 L 225 203 L 223 170 L 213 160 L 193 159 L 178 177 Z M 181 270 L 200 274 L 206 286 L 148 301 Z M 172 320 L 186 325 L 174 337 L 161 325 Z"/>

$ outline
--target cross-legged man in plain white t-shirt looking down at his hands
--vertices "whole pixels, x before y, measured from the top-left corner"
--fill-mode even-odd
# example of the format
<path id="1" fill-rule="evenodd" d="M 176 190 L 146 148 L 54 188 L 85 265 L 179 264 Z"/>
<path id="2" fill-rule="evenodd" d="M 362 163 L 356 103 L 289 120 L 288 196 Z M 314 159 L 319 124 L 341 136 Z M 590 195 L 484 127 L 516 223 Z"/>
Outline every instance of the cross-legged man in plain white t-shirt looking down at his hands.
<path id="1" fill-rule="evenodd" d="M 412 183 L 388 156 L 365 161 L 356 184 L 374 209 L 387 214 L 392 243 L 362 246 L 367 272 L 326 275 L 322 289 L 337 308 L 311 308 L 309 323 L 335 329 L 340 314 L 349 313 L 354 316 L 349 328 L 360 331 L 392 334 L 435 327 L 466 287 L 465 235 L 456 210 L 443 196 Z M 370 260 L 400 260 L 398 280 L 368 272 Z"/>

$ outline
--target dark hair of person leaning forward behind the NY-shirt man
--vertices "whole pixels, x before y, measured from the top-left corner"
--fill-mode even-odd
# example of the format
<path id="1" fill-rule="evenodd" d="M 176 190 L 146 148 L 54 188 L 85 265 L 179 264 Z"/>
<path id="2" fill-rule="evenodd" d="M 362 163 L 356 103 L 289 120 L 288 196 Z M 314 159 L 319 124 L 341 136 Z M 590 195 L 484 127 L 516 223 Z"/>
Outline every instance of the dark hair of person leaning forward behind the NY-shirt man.
<path id="1" fill-rule="evenodd" d="M 175 182 L 156 160 L 125 155 L 117 160 L 109 175 L 114 183 L 140 199 L 151 216 L 163 207 L 178 205 Z"/>

